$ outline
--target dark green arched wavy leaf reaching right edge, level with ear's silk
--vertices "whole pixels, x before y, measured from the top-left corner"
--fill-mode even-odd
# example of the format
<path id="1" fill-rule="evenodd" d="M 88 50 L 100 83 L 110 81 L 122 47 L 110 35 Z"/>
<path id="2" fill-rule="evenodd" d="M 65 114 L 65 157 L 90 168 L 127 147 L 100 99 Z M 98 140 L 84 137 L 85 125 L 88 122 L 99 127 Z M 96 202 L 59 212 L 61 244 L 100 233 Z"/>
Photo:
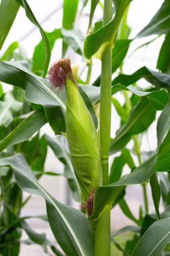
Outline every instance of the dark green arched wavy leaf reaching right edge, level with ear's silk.
<path id="1" fill-rule="evenodd" d="M 158 88 L 169 88 L 170 87 L 170 75 L 148 69 L 147 67 L 141 67 L 132 75 L 118 75 L 113 81 L 114 84 L 123 84 L 124 86 L 130 86 L 139 79 L 144 78 L 149 83 L 153 84 Z"/>

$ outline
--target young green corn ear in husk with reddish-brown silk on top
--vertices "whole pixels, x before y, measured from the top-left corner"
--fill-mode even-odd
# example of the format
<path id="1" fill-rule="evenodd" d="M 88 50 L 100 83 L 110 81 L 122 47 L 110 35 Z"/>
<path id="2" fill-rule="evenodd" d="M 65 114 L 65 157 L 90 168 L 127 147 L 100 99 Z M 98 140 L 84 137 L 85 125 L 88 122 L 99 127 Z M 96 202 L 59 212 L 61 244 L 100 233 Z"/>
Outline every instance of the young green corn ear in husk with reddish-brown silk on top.
<path id="1" fill-rule="evenodd" d="M 99 137 L 91 114 L 75 83 L 70 61 L 62 59 L 54 63 L 48 74 L 54 87 L 59 89 L 64 85 L 66 87 L 66 126 L 71 162 L 84 200 L 87 200 L 99 185 L 101 170 Z"/>

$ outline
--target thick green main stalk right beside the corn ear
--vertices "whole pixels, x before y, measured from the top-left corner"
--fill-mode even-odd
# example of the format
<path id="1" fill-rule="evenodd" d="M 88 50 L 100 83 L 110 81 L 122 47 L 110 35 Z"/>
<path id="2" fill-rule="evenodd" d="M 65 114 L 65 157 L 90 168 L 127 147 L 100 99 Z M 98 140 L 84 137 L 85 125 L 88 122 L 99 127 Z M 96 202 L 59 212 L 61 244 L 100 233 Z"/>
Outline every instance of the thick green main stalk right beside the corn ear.
<path id="1" fill-rule="evenodd" d="M 103 26 L 112 20 L 112 0 L 104 1 Z M 100 141 L 103 185 L 108 185 L 112 107 L 112 46 L 105 47 L 101 57 Z M 110 206 L 105 206 L 95 224 L 95 256 L 110 256 Z"/>

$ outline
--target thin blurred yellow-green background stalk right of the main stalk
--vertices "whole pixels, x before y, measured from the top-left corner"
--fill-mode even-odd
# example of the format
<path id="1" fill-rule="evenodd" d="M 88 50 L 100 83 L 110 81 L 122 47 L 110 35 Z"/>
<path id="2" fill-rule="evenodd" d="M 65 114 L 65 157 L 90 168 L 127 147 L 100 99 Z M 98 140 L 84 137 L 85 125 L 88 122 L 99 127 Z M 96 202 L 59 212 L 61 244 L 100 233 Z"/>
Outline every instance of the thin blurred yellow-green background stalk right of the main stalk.
<path id="1" fill-rule="evenodd" d="M 128 98 L 128 92 L 124 91 L 124 98 L 125 98 L 125 105 L 126 105 L 126 109 L 130 112 L 130 110 L 132 109 L 132 104 L 130 102 L 130 98 Z M 132 138 L 134 139 L 134 148 L 136 151 L 136 155 L 138 157 L 138 164 L 142 164 L 142 159 L 140 156 L 140 145 L 138 143 L 138 139 L 136 137 L 136 135 L 133 135 Z M 148 196 L 147 196 L 147 190 L 146 190 L 146 183 L 142 184 L 142 190 L 143 190 L 143 198 L 144 198 L 144 209 L 146 214 L 148 214 Z"/>

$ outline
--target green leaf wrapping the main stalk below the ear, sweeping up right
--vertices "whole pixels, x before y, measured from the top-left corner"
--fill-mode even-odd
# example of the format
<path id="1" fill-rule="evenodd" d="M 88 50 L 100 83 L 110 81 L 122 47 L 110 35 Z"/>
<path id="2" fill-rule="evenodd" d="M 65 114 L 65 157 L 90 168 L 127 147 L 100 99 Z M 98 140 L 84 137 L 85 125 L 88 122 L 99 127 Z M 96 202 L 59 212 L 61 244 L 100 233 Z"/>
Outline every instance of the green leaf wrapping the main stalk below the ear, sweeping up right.
<path id="1" fill-rule="evenodd" d="M 95 191 L 93 215 L 89 219 L 97 219 L 105 205 L 112 205 L 126 185 L 142 184 L 147 181 L 155 171 L 156 160 L 157 154 L 148 158 L 130 174 L 124 175 L 120 181 L 98 187 Z"/>

